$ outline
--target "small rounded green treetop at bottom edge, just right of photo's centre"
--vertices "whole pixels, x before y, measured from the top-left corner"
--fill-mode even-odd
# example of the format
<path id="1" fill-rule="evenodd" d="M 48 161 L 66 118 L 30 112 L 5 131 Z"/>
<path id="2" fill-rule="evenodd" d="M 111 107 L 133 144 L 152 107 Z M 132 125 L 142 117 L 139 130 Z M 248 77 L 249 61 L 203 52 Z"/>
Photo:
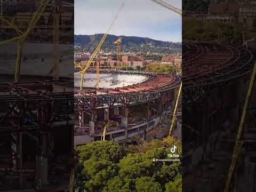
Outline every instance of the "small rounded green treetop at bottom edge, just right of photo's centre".
<path id="1" fill-rule="evenodd" d="M 141 177 L 135 181 L 137 192 L 162 192 L 161 185 L 150 177 Z"/>

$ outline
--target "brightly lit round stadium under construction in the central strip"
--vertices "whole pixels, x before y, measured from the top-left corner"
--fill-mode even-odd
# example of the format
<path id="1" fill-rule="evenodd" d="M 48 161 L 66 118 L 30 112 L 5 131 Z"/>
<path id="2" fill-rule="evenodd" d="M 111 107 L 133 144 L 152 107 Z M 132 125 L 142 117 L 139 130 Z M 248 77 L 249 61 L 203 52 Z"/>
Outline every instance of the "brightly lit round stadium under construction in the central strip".
<path id="1" fill-rule="evenodd" d="M 87 71 L 83 90 L 75 88 L 75 145 L 101 140 L 103 127 L 109 120 L 106 140 L 140 142 L 151 138 L 147 137 L 149 132 L 157 138 L 152 132 L 167 111 L 173 111 L 179 76 L 105 70 L 101 71 L 97 90 L 97 78 L 93 75 L 96 77 Z M 80 82 L 78 76 L 75 77 L 78 87 L 76 82 Z M 175 127 L 180 130 L 181 117 Z M 167 135 L 169 129 L 163 134 Z"/>

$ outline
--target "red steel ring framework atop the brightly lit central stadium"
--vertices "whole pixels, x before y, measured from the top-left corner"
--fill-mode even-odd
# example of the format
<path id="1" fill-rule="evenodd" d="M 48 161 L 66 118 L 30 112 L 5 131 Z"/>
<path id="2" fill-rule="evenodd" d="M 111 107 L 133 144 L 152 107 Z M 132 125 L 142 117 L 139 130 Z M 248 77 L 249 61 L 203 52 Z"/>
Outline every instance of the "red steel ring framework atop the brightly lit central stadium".
<path id="1" fill-rule="evenodd" d="M 147 103 L 149 109 L 150 102 L 159 103 L 159 110 L 165 109 L 171 105 L 175 98 L 175 92 L 178 89 L 181 78 L 175 75 L 163 75 L 154 73 L 125 73 L 120 71 L 105 71 L 101 73 L 109 74 L 129 74 L 145 75 L 147 80 L 135 85 L 116 89 L 84 89 L 75 90 L 75 112 L 80 116 L 82 113 L 90 115 L 91 121 L 94 119 L 97 108 L 108 107 L 109 109 L 117 106 L 125 107 L 125 116 L 129 111 L 131 103 Z M 149 120 L 149 111 L 147 121 Z M 81 134 L 81 129 L 85 129 L 83 118 L 79 118 L 75 126 L 75 134 Z M 81 122 L 82 121 L 82 122 Z M 87 128 L 86 128 L 87 129 Z M 87 130 L 89 131 L 89 130 Z"/>

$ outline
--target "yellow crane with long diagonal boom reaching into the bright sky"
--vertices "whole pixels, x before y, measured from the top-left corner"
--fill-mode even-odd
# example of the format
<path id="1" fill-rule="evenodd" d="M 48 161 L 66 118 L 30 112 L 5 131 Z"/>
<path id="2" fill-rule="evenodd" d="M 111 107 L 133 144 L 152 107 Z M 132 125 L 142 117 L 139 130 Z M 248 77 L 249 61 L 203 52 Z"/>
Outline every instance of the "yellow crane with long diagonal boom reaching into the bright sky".
<path id="1" fill-rule="evenodd" d="M 84 74 L 85 74 L 86 70 L 90 67 L 90 65 L 91 65 L 91 63 L 92 63 L 92 61 L 93 61 L 93 59 L 95 58 L 95 56 L 97 55 L 97 53 L 100 51 L 100 48 L 101 48 L 103 42 L 104 42 L 105 39 L 107 38 L 109 31 L 111 30 L 111 28 L 112 28 L 112 26 L 114 25 L 116 19 L 118 18 L 119 13 L 122 11 L 123 6 L 124 6 L 124 3 L 123 3 L 123 4 L 121 5 L 121 7 L 119 8 L 119 10 L 118 10 L 118 12 L 117 12 L 117 14 L 116 14 L 116 17 L 114 18 L 113 22 L 111 23 L 111 25 L 109 26 L 109 28 L 108 28 L 108 30 L 107 30 L 107 33 L 104 34 L 103 37 L 101 38 L 100 43 L 98 44 L 98 46 L 96 47 L 95 51 L 93 52 L 93 54 L 92 54 L 90 60 L 86 63 L 85 67 L 83 68 L 83 67 L 81 67 L 81 65 L 78 65 L 77 63 L 75 63 L 76 66 L 78 66 L 79 68 L 82 69 L 81 71 L 77 72 L 77 73 L 81 73 L 80 90 L 83 90 Z M 77 74 L 77 73 L 76 73 L 76 74 Z M 98 80 L 99 80 L 99 79 L 98 79 Z M 97 84 L 98 84 L 98 83 L 99 83 L 99 82 L 97 82 Z"/>

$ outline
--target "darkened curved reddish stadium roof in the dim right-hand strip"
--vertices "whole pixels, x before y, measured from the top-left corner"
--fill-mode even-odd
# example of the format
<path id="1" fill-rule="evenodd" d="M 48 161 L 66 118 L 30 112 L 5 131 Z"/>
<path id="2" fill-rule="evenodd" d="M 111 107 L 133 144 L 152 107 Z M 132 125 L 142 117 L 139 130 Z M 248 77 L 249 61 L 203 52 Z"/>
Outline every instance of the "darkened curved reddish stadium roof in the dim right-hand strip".
<path id="1" fill-rule="evenodd" d="M 218 43 L 182 45 L 182 76 L 185 87 L 195 87 L 241 77 L 253 68 L 251 51 Z"/>

